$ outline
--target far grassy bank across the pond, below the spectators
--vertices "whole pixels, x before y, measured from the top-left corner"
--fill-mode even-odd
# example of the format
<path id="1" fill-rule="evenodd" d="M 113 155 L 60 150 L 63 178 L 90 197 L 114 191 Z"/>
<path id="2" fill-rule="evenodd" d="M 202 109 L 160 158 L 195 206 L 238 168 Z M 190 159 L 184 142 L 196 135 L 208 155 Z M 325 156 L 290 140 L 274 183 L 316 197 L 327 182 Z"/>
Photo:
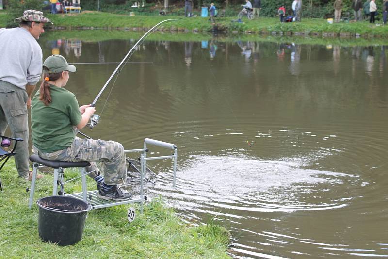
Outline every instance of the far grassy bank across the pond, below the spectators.
<path id="1" fill-rule="evenodd" d="M 165 32 L 211 32 L 213 26 L 208 18 L 182 16 L 128 16 L 115 15 L 102 12 L 83 12 L 72 15 L 48 15 L 55 23 L 57 29 L 122 29 L 145 30 L 158 22 L 167 19 L 177 19 L 165 23 L 160 28 Z M 287 34 L 313 35 L 313 36 L 343 36 L 343 37 L 388 37 L 388 26 L 371 25 L 369 22 L 328 24 L 325 19 L 302 19 L 300 23 L 280 23 L 278 18 L 262 17 L 256 20 L 243 18 L 244 23 L 232 22 L 236 17 L 217 18 L 218 30 L 227 33 L 261 33 L 261 34 Z M 5 26 L 5 14 L 0 13 L 0 27 Z"/>

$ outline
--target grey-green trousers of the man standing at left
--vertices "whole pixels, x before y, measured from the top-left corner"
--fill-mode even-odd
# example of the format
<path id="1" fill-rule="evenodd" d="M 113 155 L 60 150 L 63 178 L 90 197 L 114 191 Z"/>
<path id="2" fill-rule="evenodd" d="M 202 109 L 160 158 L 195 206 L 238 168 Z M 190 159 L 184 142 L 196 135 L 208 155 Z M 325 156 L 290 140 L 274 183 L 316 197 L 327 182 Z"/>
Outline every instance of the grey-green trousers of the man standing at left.
<path id="1" fill-rule="evenodd" d="M 19 177 L 30 171 L 28 152 L 27 92 L 13 84 L 0 81 L 0 135 L 9 126 L 12 137 L 22 138 L 15 149 L 15 165 Z"/>

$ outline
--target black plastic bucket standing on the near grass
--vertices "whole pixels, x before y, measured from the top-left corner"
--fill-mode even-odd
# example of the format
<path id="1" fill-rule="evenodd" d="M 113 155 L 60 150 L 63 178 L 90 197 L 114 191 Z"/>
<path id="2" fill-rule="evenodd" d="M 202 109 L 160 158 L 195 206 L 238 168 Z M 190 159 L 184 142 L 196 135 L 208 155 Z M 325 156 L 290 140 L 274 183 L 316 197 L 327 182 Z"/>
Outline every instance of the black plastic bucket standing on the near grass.
<path id="1" fill-rule="evenodd" d="M 87 213 L 92 206 L 66 196 L 49 196 L 36 202 L 39 206 L 39 237 L 59 245 L 75 244 L 82 238 Z"/>

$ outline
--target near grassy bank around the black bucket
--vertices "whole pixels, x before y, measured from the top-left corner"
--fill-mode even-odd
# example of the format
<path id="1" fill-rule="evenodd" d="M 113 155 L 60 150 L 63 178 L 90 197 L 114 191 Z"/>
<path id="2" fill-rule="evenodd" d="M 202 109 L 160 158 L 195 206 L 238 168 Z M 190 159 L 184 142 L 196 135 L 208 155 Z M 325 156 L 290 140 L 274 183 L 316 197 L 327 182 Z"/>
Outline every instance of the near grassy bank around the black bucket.
<path id="1" fill-rule="evenodd" d="M 1 170 L 0 258 L 229 258 L 225 228 L 214 224 L 188 226 L 160 199 L 146 203 L 144 214 L 138 210 L 131 224 L 126 218 L 129 205 L 91 210 L 82 240 L 75 245 L 42 242 L 38 237 L 38 208 L 33 205 L 29 210 L 27 206 L 29 184 L 16 175 L 13 162 Z M 67 178 L 77 175 L 66 171 Z M 79 184 L 66 184 L 69 193 L 80 188 Z M 51 190 L 52 174 L 45 174 L 35 196 L 49 196 Z"/>

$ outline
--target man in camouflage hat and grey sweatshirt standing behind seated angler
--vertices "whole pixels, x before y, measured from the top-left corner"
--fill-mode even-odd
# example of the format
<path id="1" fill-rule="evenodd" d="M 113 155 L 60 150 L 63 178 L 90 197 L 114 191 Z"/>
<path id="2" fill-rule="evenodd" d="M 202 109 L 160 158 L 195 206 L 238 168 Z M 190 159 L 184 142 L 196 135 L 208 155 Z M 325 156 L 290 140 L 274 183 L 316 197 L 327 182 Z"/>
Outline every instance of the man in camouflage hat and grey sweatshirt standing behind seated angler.
<path id="1" fill-rule="evenodd" d="M 15 164 L 19 177 L 31 180 L 27 108 L 42 73 L 42 49 L 36 40 L 52 22 L 35 10 L 24 11 L 15 21 L 20 27 L 0 29 L 0 134 L 9 125 L 12 136 L 24 140 L 15 150 Z"/>

